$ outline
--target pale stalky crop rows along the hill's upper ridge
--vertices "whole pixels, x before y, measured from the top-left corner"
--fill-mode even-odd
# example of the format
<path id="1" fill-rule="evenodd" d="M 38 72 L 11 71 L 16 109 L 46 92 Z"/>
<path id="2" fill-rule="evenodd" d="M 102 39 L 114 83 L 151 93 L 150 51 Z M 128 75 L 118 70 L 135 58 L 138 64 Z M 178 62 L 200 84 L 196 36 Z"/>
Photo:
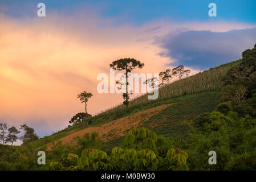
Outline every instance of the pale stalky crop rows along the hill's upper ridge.
<path id="1" fill-rule="evenodd" d="M 182 96 L 184 93 L 193 94 L 197 92 L 220 90 L 223 84 L 222 78 L 227 74 L 231 67 L 239 63 L 240 61 L 234 61 L 232 63 L 227 63 L 221 65 L 220 67 L 211 68 L 208 71 L 200 72 L 196 75 L 174 81 L 171 84 L 159 88 L 159 97 L 157 100 L 148 100 L 148 94 L 143 94 L 142 96 L 133 98 L 133 100 L 131 100 L 129 103 L 129 107 L 136 107 L 148 102 L 156 102 L 176 96 Z M 101 113 L 97 114 L 97 116 L 101 114 L 109 114 L 123 109 L 125 109 L 124 105 L 116 105 L 102 111 Z"/>

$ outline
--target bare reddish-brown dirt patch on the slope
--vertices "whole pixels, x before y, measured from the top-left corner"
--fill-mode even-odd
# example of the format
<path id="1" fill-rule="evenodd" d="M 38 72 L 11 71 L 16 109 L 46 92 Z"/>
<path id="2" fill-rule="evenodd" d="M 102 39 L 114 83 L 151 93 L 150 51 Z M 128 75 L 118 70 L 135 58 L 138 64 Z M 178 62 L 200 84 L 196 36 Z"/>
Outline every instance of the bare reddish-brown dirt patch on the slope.
<path id="1" fill-rule="evenodd" d="M 174 103 L 173 103 L 174 104 Z M 135 114 L 128 115 L 124 118 L 119 118 L 114 121 L 105 123 L 101 126 L 88 127 L 86 129 L 76 131 L 66 137 L 63 137 L 59 140 L 63 142 L 63 144 L 71 143 L 72 139 L 76 136 L 83 137 L 86 133 L 92 133 L 96 131 L 99 133 L 99 137 L 105 141 L 109 139 L 113 139 L 116 137 L 121 137 L 127 134 L 127 132 L 133 127 L 139 126 L 142 122 L 147 121 L 152 115 L 159 113 L 162 109 L 169 106 L 171 104 L 164 104 L 160 106 L 153 107 L 151 109 L 146 109 L 143 111 L 139 111 Z M 50 150 L 51 144 L 48 145 L 48 150 Z"/>

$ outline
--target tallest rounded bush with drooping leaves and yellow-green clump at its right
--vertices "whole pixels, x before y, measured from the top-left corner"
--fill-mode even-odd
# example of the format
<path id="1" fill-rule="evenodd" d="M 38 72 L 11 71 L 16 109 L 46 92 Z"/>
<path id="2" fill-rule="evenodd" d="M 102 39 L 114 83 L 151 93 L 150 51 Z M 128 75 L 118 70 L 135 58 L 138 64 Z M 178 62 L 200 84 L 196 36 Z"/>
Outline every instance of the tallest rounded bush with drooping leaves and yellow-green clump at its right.
<path id="1" fill-rule="evenodd" d="M 174 151 L 174 149 L 168 149 L 168 152 L 162 154 L 165 142 L 157 143 L 157 140 L 158 137 L 153 131 L 144 128 L 131 129 L 125 137 L 122 147 L 115 147 L 112 150 L 111 156 L 115 162 L 115 168 L 119 170 L 188 169 L 186 152 L 177 149 L 179 152 L 170 154 L 169 151 Z M 160 153 L 162 156 L 159 155 Z"/>

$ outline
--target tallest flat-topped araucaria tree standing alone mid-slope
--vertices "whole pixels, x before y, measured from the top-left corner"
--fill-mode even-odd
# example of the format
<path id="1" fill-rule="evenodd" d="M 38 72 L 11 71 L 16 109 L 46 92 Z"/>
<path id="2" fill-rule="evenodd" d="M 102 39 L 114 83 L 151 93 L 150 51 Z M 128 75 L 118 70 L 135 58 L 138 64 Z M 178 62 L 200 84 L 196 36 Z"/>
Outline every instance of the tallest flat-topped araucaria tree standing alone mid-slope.
<path id="1" fill-rule="evenodd" d="M 129 104 L 128 77 L 129 77 L 129 73 L 131 73 L 133 69 L 143 68 L 144 63 L 140 63 L 140 61 L 133 59 L 133 58 L 124 58 L 124 59 L 119 59 L 119 60 L 113 61 L 109 66 L 110 66 L 110 68 L 113 68 L 117 71 L 124 71 L 126 81 L 124 84 L 125 85 L 125 93 L 123 93 L 123 98 L 125 101 L 123 102 L 123 104 L 126 105 L 126 107 L 128 109 L 128 104 Z M 120 84 L 120 83 L 117 82 L 117 84 Z"/>

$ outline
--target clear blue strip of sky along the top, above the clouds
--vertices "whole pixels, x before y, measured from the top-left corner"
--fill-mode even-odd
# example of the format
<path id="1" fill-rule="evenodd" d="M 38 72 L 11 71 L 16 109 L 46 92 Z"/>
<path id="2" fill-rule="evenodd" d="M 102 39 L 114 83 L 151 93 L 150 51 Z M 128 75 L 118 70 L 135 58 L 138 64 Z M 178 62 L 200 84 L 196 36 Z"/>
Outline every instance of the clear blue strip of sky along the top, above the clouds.
<path id="1" fill-rule="evenodd" d="M 217 5 L 217 19 L 233 20 L 238 22 L 256 23 L 256 1 L 254 0 L 185 0 L 185 1 L 82 1 L 82 0 L 1 0 L 0 6 L 7 6 L 7 14 L 21 18 L 33 16 L 39 2 L 46 4 L 47 11 L 65 11 L 74 13 L 79 6 L 94 7 L 99 10 L 100 16 L 116 18 L 119 23 L 131 22 L 141 24 L 153 19 L 165 18 L 176 21 L 212 20 L 208 16 L 208 5 L 213 2 Z"/>

